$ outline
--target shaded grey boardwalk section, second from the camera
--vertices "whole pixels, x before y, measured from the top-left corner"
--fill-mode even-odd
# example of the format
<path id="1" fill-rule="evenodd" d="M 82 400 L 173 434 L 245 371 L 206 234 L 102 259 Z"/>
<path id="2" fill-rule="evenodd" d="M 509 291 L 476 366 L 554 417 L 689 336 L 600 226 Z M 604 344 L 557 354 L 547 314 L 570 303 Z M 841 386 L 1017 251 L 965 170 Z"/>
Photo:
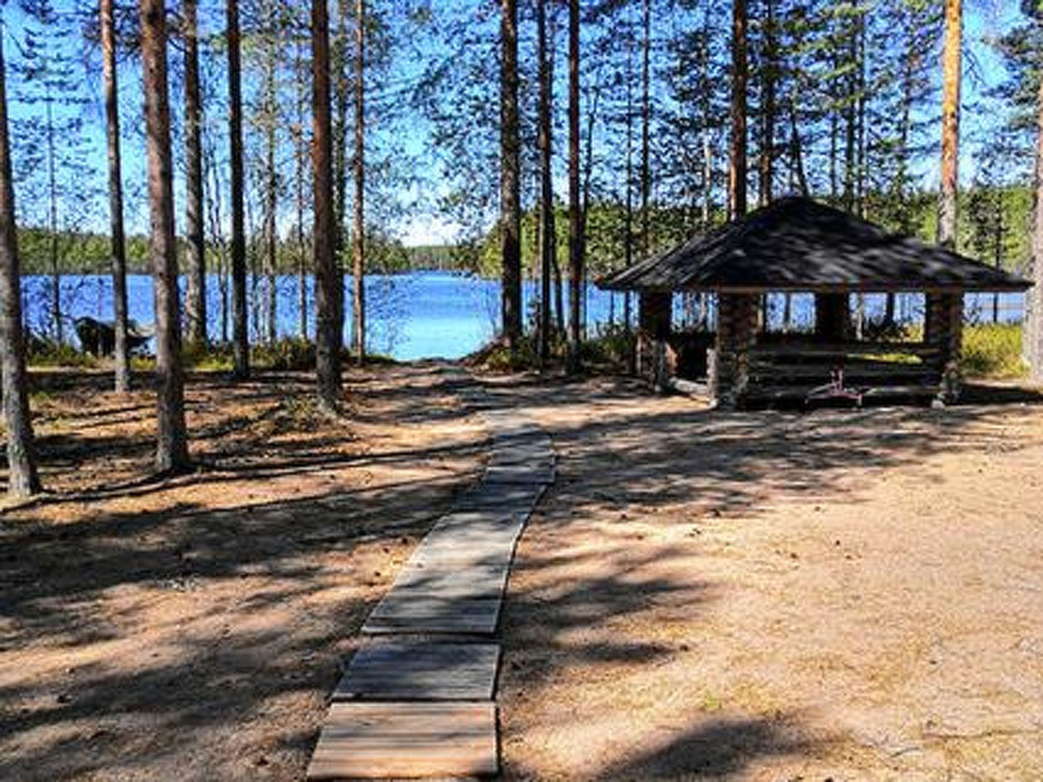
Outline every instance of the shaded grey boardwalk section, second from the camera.
<path id="1" fill-rule="evenodd" d="M 333 700 L 488 701 L 499 666 L 496 643 L 367 643 L 355 653 Z"/>

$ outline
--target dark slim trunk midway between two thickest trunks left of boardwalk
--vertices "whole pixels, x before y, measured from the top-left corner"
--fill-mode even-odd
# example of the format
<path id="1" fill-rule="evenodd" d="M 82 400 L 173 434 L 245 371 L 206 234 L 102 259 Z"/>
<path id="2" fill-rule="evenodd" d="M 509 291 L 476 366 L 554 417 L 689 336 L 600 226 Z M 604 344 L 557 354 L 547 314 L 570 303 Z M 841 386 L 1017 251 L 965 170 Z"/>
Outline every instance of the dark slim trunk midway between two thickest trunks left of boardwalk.
<path id="1" fill-rule="evenodd" d="M 250 373 L 246 312 L 246 207 L 243 202 L 243 85 L 240 57 L 239 2 L 225 0 L 228 27 L 228 157 L 232 164 L 232 341 L 235 376 Z"/>

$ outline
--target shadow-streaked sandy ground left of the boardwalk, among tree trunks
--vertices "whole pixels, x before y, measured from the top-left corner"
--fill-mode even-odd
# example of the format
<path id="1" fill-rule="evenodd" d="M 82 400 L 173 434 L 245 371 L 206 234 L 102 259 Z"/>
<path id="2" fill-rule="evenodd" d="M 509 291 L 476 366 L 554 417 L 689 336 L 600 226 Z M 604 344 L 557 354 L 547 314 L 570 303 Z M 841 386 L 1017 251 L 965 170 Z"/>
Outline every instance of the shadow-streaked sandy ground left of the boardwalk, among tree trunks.
<path id="1" fill-rule="evenodd" d="M 0 516 L 0 779 L 304 777 L 357 631 L 484 430 L 436 367 L 192 380 L 199 470 L 149 478 L 153 397 L 38 378 L 53 492 Z"/>

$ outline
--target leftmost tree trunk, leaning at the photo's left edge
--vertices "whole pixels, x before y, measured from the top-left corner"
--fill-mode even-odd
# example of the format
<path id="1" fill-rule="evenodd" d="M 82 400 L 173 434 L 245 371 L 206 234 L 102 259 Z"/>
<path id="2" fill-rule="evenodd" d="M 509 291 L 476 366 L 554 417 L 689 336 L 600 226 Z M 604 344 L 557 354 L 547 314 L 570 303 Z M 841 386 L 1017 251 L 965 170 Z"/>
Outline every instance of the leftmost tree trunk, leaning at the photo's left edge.
<path id="1" fill-rule="evenodd" d="M 22 332 L 22 273 L 15 225 L 15 187 L 7 133 L 7 88 L 0 35 L 0 384 L 7 430 L 7 493 L 26 496 L 40 491 L 37 450 L 29 414 L 25 340 Z"/>

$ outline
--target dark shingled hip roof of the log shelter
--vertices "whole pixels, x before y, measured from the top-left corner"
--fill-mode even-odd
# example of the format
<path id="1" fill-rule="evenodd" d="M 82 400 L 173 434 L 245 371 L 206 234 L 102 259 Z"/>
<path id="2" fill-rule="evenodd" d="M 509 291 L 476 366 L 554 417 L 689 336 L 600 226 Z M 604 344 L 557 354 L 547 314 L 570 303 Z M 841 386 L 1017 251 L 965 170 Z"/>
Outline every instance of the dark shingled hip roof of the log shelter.
<path id="1" fill-rule="evenodd" d="M 599 282 L 615 291 L 1022 291 L 1032 284 L 889 234 L 810 198 L 782 198 Z"/>

